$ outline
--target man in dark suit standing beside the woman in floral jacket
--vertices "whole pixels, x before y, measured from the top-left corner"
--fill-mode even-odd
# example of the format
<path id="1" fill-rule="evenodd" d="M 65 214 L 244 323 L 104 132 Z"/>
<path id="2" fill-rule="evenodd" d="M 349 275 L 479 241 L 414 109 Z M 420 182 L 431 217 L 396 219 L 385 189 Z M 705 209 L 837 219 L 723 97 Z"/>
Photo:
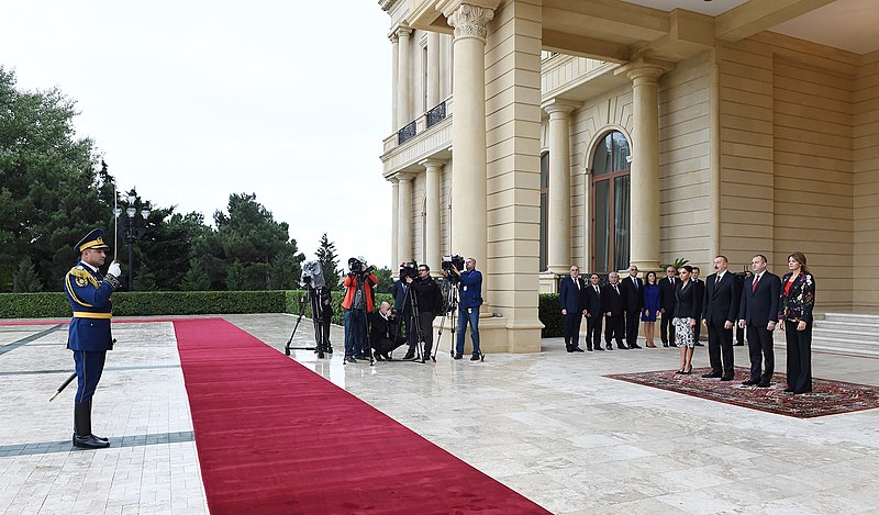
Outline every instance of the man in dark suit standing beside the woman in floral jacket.
<path id="1" fill-rule="evenodd" d="M 766 256 L 758 254 L 750 260 L 753 275 L 745 279 L 742 301 L 738 303 L 738 327 L 747 328 L 750 378 L 742 384 L 769 388 L 776 358 L 772 349 L 772 333 L 778 320 L 778 296 L 781 281 L 766 270 Z M 760 365 L 766 368 L 760 373 Z"/>

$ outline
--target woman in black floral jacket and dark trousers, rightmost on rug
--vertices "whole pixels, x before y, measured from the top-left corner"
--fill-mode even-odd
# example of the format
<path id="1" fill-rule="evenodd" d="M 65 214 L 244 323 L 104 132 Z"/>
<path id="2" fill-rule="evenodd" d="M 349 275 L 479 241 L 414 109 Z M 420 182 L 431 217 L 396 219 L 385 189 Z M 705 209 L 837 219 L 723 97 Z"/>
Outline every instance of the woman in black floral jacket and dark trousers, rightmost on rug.
<path id="1" fill-rule="evenodd" d="M 785 327 L 788 343 L 788 393 L 812 391 L 812 307 L 815 305 L 815 278 L 805 267 L 803 253 L 788 256 L 778 303 L 779 329 Z"/>

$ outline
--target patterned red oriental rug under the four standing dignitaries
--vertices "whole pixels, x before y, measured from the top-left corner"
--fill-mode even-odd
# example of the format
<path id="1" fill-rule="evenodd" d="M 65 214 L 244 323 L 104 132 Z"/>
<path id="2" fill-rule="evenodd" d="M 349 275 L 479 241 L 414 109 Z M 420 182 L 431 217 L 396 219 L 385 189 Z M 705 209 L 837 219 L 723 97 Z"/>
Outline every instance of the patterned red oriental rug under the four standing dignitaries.
<path id="1" fill-rule="evenodd" d="M 742 385 L 742 381 L 749 377 L 748 369 L 744 367 L 736 367 L 735 381 L 701 378 L 703 373 L 710 371 L 711 368 L 694 368 L 689 376 L 676 374 L 675 370 L 656 370 L 605 377 L 798 418 L 879 407 L 879 388 L 867 384 L 813 378 L 811 393 L 792 395 L 783 392 L 787 388 L 787 378 L 783 373 L 776 373 L 772 377 L 771 387 L 756 388 Z"/>

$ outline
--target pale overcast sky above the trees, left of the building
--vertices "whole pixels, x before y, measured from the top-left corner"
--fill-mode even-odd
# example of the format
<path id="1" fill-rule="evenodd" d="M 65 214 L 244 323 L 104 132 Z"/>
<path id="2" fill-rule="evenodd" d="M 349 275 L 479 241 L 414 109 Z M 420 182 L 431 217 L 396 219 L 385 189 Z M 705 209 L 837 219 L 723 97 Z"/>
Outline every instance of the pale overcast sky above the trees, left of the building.
<path id="1" fill-rule="evenodd" d="M 390 265 L 377 1 L 3 3 L 0 65 L 76 100 L 120 190 L 211 223 L 230 193 L 256 193 L 308 259 L 326 232 L 343 265 Z"/>

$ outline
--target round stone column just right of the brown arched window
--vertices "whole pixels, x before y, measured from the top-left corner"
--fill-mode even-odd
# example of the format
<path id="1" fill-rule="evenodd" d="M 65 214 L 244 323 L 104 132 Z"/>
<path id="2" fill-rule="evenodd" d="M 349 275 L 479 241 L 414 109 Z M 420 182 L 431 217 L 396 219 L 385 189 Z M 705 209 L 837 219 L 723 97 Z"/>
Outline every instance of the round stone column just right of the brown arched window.
<path id="1" fill-rule="evenodd" d="M 623 70 L 632 80 L 634 117 L 630 260 L 641 270 L 659 269 L 659 102 L 656 81 L 671 66 L 641 59 Z"/>

